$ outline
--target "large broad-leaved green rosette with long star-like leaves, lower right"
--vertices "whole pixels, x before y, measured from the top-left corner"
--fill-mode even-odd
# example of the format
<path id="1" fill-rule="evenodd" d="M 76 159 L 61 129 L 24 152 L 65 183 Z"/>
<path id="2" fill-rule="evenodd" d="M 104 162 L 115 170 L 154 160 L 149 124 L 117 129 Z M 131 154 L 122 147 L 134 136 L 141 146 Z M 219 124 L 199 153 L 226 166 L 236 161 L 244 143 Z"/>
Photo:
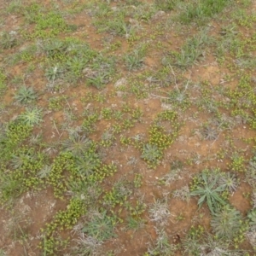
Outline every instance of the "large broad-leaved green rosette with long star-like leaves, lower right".
<path id="1" fill-rule="evenodd" d="M 204 201 L 207 201 L 207 206 L 214 213 L 218 207 L 224 206 L 225 204 L 225 201 L 219 195 L 224 191 L 225 185 L 218 186 L 218 177 L 215 177 L 213 181 L 209 181 L 206 172 L 201 173 L 201 179 L 201 183 L 196 185 L 190 195 L 201 196 L 198 201 L 199 207 L 202 206 Z"/>

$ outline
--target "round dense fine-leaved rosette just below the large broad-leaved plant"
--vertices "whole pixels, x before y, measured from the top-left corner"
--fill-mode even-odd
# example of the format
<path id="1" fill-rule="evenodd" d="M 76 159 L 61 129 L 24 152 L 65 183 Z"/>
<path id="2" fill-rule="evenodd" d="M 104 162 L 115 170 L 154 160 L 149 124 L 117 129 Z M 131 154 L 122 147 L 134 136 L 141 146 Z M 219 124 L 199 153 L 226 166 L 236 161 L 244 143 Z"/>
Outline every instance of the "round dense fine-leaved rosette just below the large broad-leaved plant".
<path id="1" fill-rule="evenodd" d="M 225 205 L 213 213 L 211 226 L 218 237 L 232 239 L 241 228 L 241 213 Z"/>

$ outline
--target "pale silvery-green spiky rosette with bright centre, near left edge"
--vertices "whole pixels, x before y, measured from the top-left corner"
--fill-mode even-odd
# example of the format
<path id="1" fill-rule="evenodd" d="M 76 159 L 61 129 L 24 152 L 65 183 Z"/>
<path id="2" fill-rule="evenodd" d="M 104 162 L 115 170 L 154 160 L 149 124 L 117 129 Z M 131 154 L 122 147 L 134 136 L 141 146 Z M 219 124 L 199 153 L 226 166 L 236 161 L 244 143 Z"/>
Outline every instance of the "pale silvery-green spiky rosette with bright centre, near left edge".
<path id="1" fill-rule="evenodd" d="M 42 109 L 38 107 L 26 108 L 26 112 L 21 113 L 18 119 L 25 125 L 39 125 L 43 121 Z"/>

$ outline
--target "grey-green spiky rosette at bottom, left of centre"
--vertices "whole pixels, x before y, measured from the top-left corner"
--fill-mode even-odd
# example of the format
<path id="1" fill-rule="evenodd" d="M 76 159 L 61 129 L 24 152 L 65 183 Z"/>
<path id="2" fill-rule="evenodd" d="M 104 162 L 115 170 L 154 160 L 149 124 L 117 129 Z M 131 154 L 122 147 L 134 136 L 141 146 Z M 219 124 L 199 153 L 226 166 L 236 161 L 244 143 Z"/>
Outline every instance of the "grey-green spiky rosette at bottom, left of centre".
<path id="1" fill-rule="evenodd" d="M 115 221 L 113 217 L 107 215 L 107 211 L 94 212 L 82 231 L 97 241 L 105 241 L 116 236 L 114 226 Z"/>

